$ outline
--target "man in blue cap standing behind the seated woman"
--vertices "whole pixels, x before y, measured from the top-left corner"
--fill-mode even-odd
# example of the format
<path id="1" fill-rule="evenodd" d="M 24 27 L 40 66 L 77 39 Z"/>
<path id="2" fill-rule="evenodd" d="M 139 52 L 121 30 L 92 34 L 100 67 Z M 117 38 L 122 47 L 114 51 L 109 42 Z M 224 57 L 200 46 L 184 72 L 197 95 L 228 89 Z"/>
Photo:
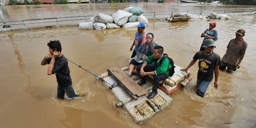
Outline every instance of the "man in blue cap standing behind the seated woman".
<path id="1" fill-rule="evenodd" d="M 137 27 L 138 27 L 138 31 L 135 34 L 135 39 L 130 48 L 130 51 L 132 51 L 133 46 L 135 46 L 133 53 L 131 55 L 131 58 L 133 58 L 137 54 L 137 50 L 138 50 L 139 46 L 141 46 L 143 43 L 146 42 L 146 34 L 144 32 L 146 25 L 144 23 L 139 23 L 137 25 Z"/>

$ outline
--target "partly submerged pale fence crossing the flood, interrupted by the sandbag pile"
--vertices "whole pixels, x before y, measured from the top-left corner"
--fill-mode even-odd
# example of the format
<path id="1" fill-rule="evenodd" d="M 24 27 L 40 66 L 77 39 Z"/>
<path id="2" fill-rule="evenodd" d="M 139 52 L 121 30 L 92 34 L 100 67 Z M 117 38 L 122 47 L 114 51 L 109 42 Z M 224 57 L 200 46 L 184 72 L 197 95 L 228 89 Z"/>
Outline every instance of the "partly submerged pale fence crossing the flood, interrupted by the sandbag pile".
<path id="1" fill-rule="evenodd" d="M 179 10 L 179 11 L 165 11 L 165 12 L 145 12 L 143 15 L 148 20 L 163 19 L 170 17 L 171 14 L 190 13 L 195 15 L 209 15 L 210 13 L 227 14 L 227 15 L 253 15 L 256 14 L 256 8 L 247 9 L 202 9 L 202 10 Z M 111 14 L 110 14 L 111 15 Z M 95 15 L 86 16 L 70 16 L 70 17 L 59 17 L 59 18 L 34 18 L 34 19 L 22 19 L 22 20 L 11 20 L 11 21 L 0 21 L 2 27 L 15 27 L 16 29 L 4 30 L 4 31 L 15 31 L 15 30 L 26 30 L 28 25 L 36 25 L 41 27 L 31 27 L 30 29 L 39 29 L 47 27 L 62 27 L 62 26 L 77 26 L 79 22 L 89 21 L 91 17 Z M 73 22 L 75 21 L 75 23 Z"/>

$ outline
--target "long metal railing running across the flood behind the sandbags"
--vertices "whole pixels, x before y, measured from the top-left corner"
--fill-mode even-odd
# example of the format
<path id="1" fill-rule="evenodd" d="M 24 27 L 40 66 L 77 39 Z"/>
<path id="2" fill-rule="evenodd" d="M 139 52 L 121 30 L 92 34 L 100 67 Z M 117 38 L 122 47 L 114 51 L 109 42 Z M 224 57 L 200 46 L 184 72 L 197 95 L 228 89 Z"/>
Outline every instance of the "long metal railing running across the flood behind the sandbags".
<path id="1" fill-rule="evenodd" d="M 208 15 L 210 13 L 222 13 L 222 14 L 231 14 L 231 13 L 252 13 L 256 12 L 256 8 L 247 8 L 247 9 L 202 9 L 202 10 L 178 10 L 178 11 L 163 11 L 163 12 L 146 12 L 143 13 L 146 18 L 156 18 L 156 16 L 170 16 L 171 14 L 179 13 L 191 13 L 197 15 Z M 111 16 L 112 14 L 110 14 Z M 54 25 L 59 25 L 59 22 L 66 21 L 79 21 L 86 20 L 88 21 L 91 17 L 95 15 L 86 15 L 86 16 L 70 16 L 70 17 L 59 17 L 59 18 L 34 18 L 34 19 L 23 19 L 23 20 L 11 20 L 11 21 L 0 21 L 0 26 L 14 26 L 14 25 L 24 25 L 27 27 L 27 24 L 39 24 L 39 23 L 54 23 Z M 166 17 L 165 17 L 166 18 Z M 49 24 L 53 25 L 53 24 Z"/>

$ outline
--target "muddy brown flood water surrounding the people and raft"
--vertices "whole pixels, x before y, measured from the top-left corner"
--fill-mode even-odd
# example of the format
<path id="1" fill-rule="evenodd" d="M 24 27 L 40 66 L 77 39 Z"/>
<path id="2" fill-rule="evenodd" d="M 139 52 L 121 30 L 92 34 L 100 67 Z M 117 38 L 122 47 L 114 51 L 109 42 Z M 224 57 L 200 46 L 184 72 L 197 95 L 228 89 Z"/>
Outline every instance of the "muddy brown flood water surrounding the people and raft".
<path id="1" fill-rule="evenodd" d="M 6 19 L 46 18 L 115 12 L 129 6 L 145 12 L 171 9 L 225 9 L 224 6 L 182 3 L 68 4 L 2 7 Z M 5 9 L 4 9 L 5 8 Z M 4 11 L 5 10 L 5 11 Z M 53 11 L 54 10 L 54 11 Z M 8 15 L 7 15 L 8 13 Z M 24 15 L 23 15 L 24 14 Z M 197 64 L 190 68 L 192 81 L 171 96 L 173 102 L 143 124 L 137 124 L 118 99 L 99 80 L 69 62 L 74 90 L 84 97 L 73 101 L 56 98 L 57 82 L 47 75 L 41 60 L 48 54 L 49 40 L 60 40 L 62 53 L 83 68 L 100 75 L 112 66 L 124 67 L 137 28 L 80 30 L 61 27 L 0 33 L 0 128 L 255 128 L 256 127 L 256 15 L 215 19 L 219 40 L 214 52 L 222 57 L 239 28 L 246 30 L 247 52 L 236 73 L 219 72 L 219 88 L 210 84 L 206 96 L 195 94 Z M 174 63 L 186 67 L 200 49 L 201 33 L 210 21 L 167 23 L 149 21 L 146 33 Z"/>

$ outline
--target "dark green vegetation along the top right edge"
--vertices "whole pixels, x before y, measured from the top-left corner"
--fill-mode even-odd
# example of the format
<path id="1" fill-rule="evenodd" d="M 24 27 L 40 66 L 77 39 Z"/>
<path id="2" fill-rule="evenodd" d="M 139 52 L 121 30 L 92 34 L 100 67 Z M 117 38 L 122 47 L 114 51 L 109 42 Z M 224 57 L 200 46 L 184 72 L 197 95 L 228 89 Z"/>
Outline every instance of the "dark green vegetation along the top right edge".
<path id="1" fill-rule="evenodd" d="M 217 0 L 197 0 L 199 2 L 213 2 Z M 256 0 L 218 0 L 223 4 L 235 4 L 235 5 L 256 5 Z"/>

